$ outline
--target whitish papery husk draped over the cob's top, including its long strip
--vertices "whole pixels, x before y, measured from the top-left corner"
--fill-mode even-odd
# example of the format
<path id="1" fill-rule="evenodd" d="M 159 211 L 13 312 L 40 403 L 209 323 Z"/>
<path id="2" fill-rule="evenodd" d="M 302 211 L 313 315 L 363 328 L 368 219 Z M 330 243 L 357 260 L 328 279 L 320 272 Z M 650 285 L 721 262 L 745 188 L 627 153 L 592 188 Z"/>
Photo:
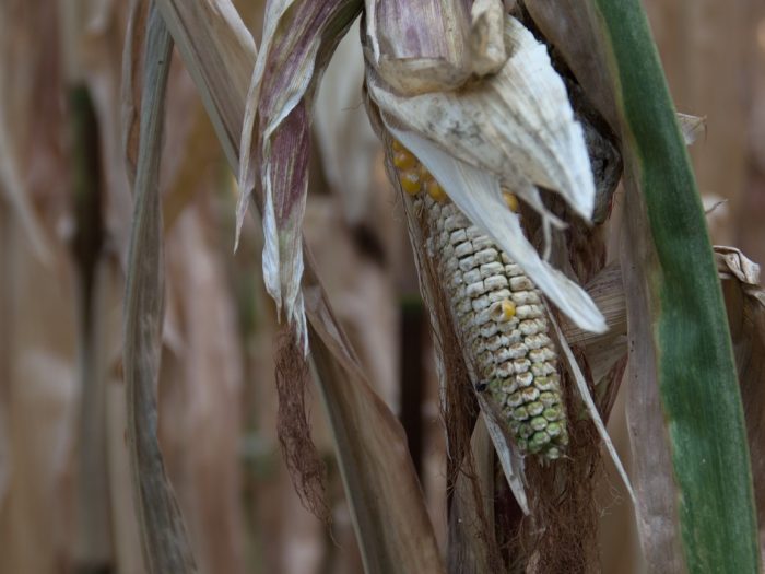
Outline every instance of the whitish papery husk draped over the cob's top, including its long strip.
<path id="1" fill-rule="evenodd" d="M 420 159 L 466 215 L 561 311 L 582 328 L 602 331 L 605 324 L 587 294 L 539 257 L 518 216 L 502 199 L 499 185 L 505 185 L 527 201 L 542 216 L 548 238 L 550 226 L 561 223 L 542 203 L 536 185 L 556 190 L 586 219 L 595 202 L 581 126 L 574 120 L 544 46 L 511 17 L 506 20 L 505 42 L 514 51 L 502 71 L 459 93 L 403 98 L 368 68 L 369 96 L 387 129 Z"/>

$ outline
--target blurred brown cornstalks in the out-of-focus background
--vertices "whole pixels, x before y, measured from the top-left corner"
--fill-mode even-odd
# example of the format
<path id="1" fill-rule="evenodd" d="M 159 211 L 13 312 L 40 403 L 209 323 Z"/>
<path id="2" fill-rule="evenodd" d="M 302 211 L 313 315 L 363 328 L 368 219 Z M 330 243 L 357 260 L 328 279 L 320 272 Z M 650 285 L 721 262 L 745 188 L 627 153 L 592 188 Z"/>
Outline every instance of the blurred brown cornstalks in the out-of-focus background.
<path id="1" fill-rule="evenodd" d="M 259 44 L 263 3 L 235 2 Z M 716 244 L 765 262 L 765 3 L 646 0 Z M 0 574 L 143 572 L 125 443 L 121 311 L 132 200 L 121 120 L 127 2 L 0 0 Z M 426 312 L 404 215 L 361 98 L 357 31 L 316 101 L 305 222 L 369 380 L 408 433 L 442 548 L 446 464 Z M 162 194 L 160 441 L 202 572 L 355 573 L 361 561 L 318 394 L 333 524 L 301 505 L 275 436 L 262 234 L 233 253 L 236 185 L 175 59 Z M 620 196 L 612 226 L 619 224 Z M 617 403 L 611 431 L 628 466 Z M 603 476 L 603 572 L 642 572 Z"/>

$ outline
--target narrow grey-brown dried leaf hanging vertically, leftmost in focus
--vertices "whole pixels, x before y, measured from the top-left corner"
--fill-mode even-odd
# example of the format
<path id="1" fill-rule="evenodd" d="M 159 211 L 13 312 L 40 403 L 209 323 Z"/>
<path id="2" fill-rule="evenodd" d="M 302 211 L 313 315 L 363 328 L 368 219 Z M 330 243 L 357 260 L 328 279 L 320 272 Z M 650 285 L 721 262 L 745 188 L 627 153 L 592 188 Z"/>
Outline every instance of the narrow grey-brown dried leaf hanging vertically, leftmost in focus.
<path id="1" fill-rule="evenodd" d="M 144 565 L 152 574 L 197 570 L 156 435 L 156 385 L 164 311 L 158 172 L 172 46 L 170 35 L 152 5 L 146 33 L 123 330 L 132 485 Z"/>

